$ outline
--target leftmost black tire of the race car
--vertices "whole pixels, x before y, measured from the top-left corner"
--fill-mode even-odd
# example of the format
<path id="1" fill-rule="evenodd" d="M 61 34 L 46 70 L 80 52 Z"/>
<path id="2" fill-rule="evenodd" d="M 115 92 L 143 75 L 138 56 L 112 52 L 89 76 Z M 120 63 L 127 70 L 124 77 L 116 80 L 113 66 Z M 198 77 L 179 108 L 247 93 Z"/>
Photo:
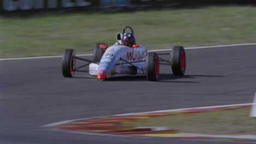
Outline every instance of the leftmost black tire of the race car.
<path id="1" fill-rule="evenodd" d="M 74 77 L 75 72 L 75 51 L 66 49 L 62 55 L 62 75 L 64 77 Z"/>

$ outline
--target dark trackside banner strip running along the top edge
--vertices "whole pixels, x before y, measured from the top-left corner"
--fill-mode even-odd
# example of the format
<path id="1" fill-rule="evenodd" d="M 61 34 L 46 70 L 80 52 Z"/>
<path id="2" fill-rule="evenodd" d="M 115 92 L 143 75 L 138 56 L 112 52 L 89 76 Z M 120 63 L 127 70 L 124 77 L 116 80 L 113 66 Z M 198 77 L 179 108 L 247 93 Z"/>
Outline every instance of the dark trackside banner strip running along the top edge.
<path id="1" fill-rule="evenodd" d="M 0 0 L 1 13 L 16 13 L 20 11 L 49 11 L 63 9 L 141 9 L 146 7 L 173 7 L 173 6 L 202 6 L 214 4 L 253 4 L 255 1 L 223 1 L 223 0 Z"/>

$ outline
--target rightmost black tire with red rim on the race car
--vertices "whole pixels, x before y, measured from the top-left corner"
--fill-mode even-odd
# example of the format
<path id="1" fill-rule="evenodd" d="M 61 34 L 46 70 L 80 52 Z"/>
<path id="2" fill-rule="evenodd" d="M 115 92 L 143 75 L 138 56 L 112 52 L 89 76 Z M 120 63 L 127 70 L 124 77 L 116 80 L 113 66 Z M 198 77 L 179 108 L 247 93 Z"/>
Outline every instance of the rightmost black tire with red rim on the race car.
<path id="1" fill-rule="evenodd" d="M 172 73 L 174 76 L 183 76 L 186 70 L 186 55 L 183 46 L 174 46 L 171 52 Z"/>

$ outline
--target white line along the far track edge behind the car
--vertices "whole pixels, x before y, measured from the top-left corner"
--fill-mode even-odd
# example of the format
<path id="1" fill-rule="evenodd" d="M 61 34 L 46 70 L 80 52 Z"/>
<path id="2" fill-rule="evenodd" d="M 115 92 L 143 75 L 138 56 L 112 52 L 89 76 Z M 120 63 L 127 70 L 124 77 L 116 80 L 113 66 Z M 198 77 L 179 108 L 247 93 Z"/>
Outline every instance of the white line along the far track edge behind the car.
<path id="1" fill-rule="evenodd" d="M 191 49 L 209 49 L 209 48 L 216 48 L 216 47 L 246 46 L 246 45 L 256 45 L 256 43 L 233 44 L 233 45 L 216 45 L 216 46 L 200 46 L 200 47 L 188 47 L 188 48 L 185 48 L 185 49 L 186 49 L 186 50 L 191 50 Z M 170 50 L 172 50 L 172 49 L 149 50 L 149 52 L 154 52 L 154 51 L 170 51 Z M 92 54 L 77 55 L 77 56 L 92 56 Z M 39 58 L 57 58 L 57 57 L 62 57 L 62 56 L 24 57 L 24 58 L 0 58 L 0 61 L 21 60 L 21 59 L 39 59 Z"/>

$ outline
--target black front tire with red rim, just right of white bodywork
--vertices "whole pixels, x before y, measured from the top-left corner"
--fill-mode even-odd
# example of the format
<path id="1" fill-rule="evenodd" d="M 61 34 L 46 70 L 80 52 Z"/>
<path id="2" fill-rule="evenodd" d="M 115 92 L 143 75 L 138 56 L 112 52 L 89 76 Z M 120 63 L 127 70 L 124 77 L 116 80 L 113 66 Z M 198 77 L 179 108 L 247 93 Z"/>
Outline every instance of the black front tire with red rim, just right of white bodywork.
<path id="1" fill-rule="evenodd" d="M 149 81 L 158 81 L 159 58 L 156 52 L 148 52 L 146 59 L 146 76 Z"/>

